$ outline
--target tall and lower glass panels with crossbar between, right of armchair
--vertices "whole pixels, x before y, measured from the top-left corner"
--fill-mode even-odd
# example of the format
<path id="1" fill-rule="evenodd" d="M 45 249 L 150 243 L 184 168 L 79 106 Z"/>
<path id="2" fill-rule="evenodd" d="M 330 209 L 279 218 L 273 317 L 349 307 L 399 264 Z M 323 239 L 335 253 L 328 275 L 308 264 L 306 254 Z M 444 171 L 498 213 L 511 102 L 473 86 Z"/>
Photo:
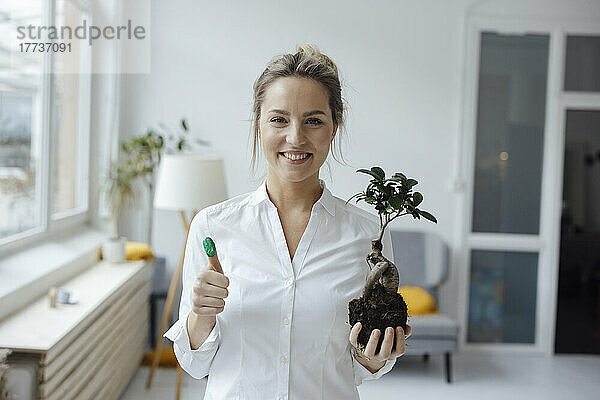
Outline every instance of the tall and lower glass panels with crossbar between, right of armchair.
<path id="1" fill-rule="evenodd" d="M 549 34 L 479 32 L 468 344 L 536 344 Z"/>

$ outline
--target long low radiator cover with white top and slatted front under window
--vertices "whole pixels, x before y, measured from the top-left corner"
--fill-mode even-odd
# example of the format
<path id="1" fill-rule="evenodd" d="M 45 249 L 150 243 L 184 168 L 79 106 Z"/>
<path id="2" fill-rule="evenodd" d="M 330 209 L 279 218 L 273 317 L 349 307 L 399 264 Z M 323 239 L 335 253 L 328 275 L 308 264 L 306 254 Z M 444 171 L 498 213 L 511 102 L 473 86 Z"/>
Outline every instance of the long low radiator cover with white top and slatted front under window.
<path id="1" fill-rule="evenodd" d="M 47 298 L 0 322 L 0 347 L 13 349 L 15 399 L 117 400 L 148 338 L 152 268 L 145 261 L 99 262 L 61 288 L 78 304 Z"/>

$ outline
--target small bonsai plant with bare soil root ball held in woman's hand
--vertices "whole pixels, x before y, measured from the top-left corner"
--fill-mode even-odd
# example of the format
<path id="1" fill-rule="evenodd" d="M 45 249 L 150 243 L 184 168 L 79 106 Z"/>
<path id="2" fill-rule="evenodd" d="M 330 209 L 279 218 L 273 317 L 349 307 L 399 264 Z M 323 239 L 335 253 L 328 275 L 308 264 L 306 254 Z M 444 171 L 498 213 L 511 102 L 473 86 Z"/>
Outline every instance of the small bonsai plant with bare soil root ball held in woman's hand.
<path id="1" fill-rule="evenodd" d="M 359 321 L 362 324 L 357 342 L 366 346 L 373 329 L 385 332 L 388 326 L 402 326 L 406 331 L 407 307 L 398 292 L 400 275 L 396 265 L 382 254 L 385 229 L 390 222 L 403 215 L 412 215 L 415 219 L 423 217 L 434 223 L 437 223 L 437 220 L 427 211 L 417 207 L 423 201 L 423 195 L 412 191 L 418 183 L 416 180 L 409 179 L 400 172 L 386 179 L 385 172 L 380 167 L 359 169 L 356 172 L 368 174 L 372 179 L 365 191 L 350 197 L 346 204 L 356 198 L 357 203 L 364 200 L 374 206 L 379 215 L 380 227 L 379 236 L 371 241 L 371 252 L 366 257 L 370 272 L 362 296 L 348 303 L 350 325 L 353 326 Z M 382 340 L 383 335 L 375 353 L 381 349 Z M 395 341 L 392 351 L 394 349 Z"/>

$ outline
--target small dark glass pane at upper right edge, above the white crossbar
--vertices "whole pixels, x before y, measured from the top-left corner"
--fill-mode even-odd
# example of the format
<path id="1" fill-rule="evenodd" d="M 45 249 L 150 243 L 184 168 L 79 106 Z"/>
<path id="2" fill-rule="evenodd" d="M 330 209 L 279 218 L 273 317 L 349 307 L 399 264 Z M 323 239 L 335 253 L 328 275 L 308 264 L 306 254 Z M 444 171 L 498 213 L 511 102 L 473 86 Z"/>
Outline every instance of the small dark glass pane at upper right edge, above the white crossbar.
<path id="1" fill-rule="evenodd" d="M 600 36 L 567 36 L 565 90 L 600 92 Z"/>

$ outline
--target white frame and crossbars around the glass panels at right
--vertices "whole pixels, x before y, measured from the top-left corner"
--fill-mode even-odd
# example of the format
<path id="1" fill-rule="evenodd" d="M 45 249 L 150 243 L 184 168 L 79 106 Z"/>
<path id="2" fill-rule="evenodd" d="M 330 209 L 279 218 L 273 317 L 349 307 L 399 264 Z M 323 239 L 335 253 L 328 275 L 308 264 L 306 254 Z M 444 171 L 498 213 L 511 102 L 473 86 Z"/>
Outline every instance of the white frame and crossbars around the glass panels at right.
<path id="1" fill-rule="evenodd" d="M 480 37 L 484 31 L 499 34 L 544 34 L 549 36 L 546 110 L 539 235 L 471 233 Z M 556 18 L 497 18 L 467 16 L 465 19 L 463 101 L 458 176 L 456 187 L 463 199 L 457 224 L 459 348 L 484 353 L 554 353 L 560 218 L 564 164 L 566 110 L 600 109 L 600 93 L 563 92 L 566 37 L 569 34 L 600 35 L 600 24 L 588 20 Z M 468 343 L 470 252 L 472 249 L 538 252 L 535 341 L 533 344 Z"/>

